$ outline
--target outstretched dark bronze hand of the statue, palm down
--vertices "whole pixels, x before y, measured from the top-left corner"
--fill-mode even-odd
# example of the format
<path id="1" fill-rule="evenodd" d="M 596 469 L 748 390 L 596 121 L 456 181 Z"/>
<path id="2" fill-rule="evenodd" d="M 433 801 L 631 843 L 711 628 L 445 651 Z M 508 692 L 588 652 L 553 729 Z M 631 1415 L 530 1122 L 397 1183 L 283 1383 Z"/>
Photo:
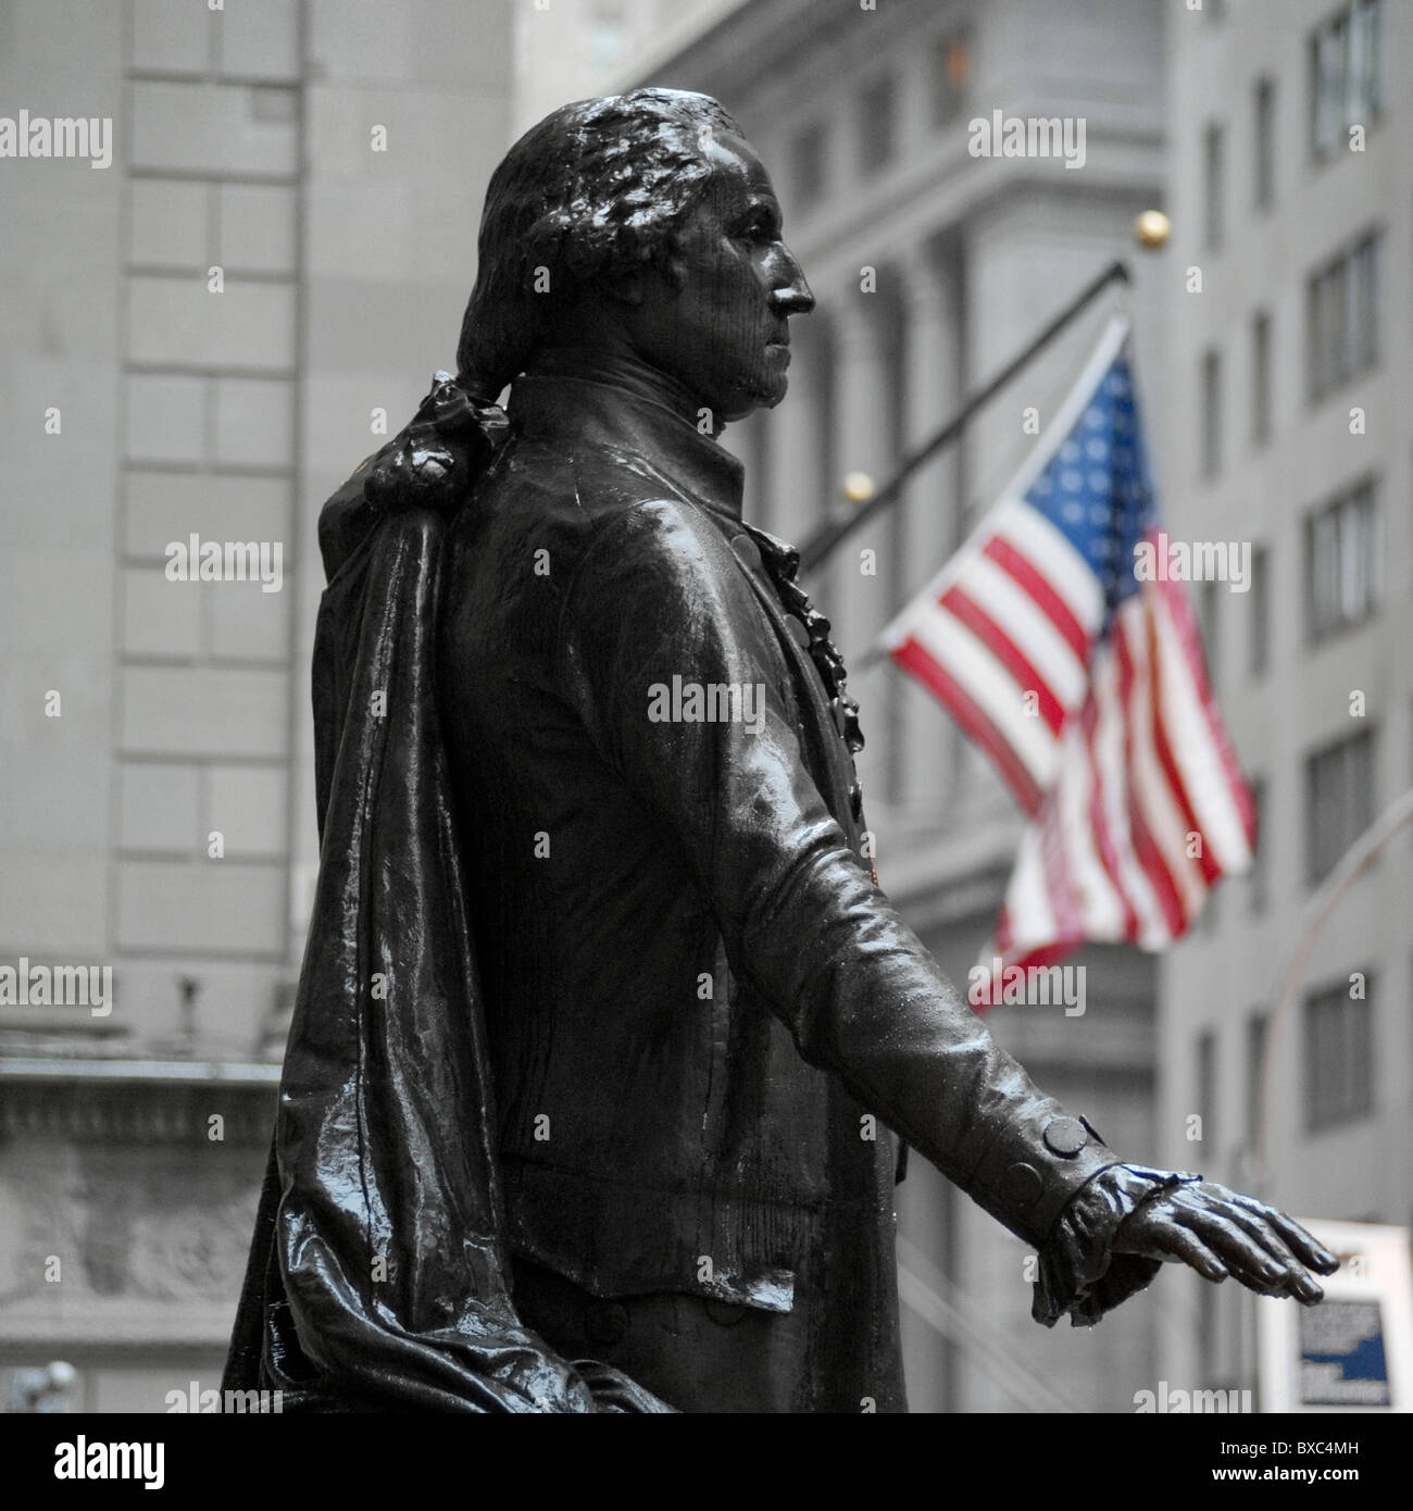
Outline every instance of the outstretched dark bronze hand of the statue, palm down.
<path id="1" fill-rule="evenodd" d="M 1114 1234 L 1115 1254 L 1180 1260 L 1207 1280 L 1235 1275 L 1263 1296 L 1324 1299 L 1309 1271 L 1333 1275 L 1339 1260 L 1294 1218 L 1214 1180 L 1173 1186 L 1144 1201 Z"/>

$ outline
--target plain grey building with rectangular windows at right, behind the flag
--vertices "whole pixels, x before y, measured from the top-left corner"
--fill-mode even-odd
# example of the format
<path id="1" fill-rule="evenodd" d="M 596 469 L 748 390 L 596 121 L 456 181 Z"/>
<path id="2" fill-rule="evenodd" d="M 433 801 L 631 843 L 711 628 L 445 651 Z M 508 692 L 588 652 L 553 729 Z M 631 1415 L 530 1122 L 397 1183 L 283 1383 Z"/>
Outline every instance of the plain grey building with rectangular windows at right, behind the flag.
<path id="1" fill-rule="evenodd" d="M 1407 1224 L 1413 840 L 1313 935 L 1310 910 L 1413 777 L 1413 12 L 1209 0 L 1168 44 L 1164 476 L 1174 533 L 1251 547 L 1245 589 L 1192 591 L 1260 840 L 1164 963 L 1162 1154 L 1298 1216 Z M 1250 1387 L 1250 1299 L 1174 1289 L 1165 1378 Z"/>

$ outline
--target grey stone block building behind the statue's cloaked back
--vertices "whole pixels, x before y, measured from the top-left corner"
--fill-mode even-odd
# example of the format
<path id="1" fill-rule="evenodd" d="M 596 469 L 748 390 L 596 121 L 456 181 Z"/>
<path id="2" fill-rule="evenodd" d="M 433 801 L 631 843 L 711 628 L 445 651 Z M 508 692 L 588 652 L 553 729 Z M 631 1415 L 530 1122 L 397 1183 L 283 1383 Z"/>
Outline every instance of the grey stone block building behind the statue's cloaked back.
<path id="1" fill-rule="evenodd" d="M 0 1000 L 0 1410 L 53 1360 L 100 1411 L 219 1377 L 316 864 L 316 520 L 453 363 L 509 141 L 509 0 L 473 20 L 0 14 L 5 109 L 112 148 L 0 157 L 0 967 L 112 984 Z M 174 577 L 193 535 L 271 571 Z"/>

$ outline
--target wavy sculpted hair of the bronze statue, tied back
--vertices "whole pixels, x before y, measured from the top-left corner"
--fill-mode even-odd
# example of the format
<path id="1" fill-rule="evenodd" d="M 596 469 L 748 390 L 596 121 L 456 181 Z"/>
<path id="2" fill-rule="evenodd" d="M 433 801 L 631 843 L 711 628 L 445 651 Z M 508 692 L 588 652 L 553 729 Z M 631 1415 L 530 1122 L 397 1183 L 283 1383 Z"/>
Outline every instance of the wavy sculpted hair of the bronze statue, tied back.
<path id="1" fill-rule="evenodd" d="M 706 139 L 739 130 L 710 95 L 680 89 L 580 100 L 530 127 L 487 189 L 456 348 L 464 387 L 494 400 L 567 295 L 663 264 L 712 174 Z"/>

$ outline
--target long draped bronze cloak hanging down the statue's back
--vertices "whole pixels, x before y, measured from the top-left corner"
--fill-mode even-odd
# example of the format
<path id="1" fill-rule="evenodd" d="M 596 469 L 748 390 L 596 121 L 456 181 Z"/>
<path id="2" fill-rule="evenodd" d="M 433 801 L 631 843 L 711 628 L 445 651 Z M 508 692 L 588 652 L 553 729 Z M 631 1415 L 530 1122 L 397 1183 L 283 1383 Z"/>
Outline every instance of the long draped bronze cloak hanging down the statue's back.
<path id="1" fill-rule="evenodd" d="M 496 417 L 481 413 L 491 432 Z M 390 491 L 379 462 L 416 479 L 417 434 L 364 462 L 320 518 L 319 882 L 222 1387 L 281 1390 L 286 1411 L 669 1410 L 608 1366 L 555 1355 L 511 1302 L 434 684 L 447 521 L 408 506 L 416 488 L 394 509 L 369 497 Z M 434 450 L 434 476 L 438 461 L 464 488 L 465 458 Z"/>

